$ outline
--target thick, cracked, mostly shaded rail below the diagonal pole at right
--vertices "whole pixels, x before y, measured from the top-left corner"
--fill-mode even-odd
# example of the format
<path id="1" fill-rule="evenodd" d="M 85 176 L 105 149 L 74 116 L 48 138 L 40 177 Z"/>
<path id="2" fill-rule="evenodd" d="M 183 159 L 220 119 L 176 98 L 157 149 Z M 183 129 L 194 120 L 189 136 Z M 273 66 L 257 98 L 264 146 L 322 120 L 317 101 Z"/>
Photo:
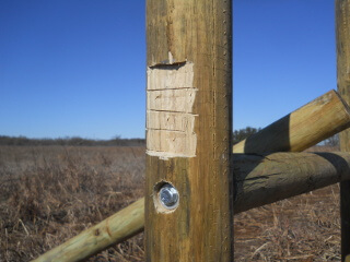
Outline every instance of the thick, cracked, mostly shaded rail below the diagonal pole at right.
<path id="1" fill-rule="evenodd" d="M 234 154 L 235 214 L 350 180 L 349 153 Z"/>

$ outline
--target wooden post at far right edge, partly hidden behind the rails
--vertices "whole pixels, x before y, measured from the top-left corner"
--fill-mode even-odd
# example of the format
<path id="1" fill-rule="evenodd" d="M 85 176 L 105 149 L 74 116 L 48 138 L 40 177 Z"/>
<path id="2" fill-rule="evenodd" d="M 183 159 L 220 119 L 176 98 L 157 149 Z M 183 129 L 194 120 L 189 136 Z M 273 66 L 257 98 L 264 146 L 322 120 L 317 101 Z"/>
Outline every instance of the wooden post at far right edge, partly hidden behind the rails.
<path id="1" fill-rule="evenodd" d="M 337 82 L 350 103 L 350 0 L 336 0 Z M 350 130 L 340 133 L 340 150 L 350 152 Z M 341 261 L 350 254 L 350 181 L 340 182 Z"/>

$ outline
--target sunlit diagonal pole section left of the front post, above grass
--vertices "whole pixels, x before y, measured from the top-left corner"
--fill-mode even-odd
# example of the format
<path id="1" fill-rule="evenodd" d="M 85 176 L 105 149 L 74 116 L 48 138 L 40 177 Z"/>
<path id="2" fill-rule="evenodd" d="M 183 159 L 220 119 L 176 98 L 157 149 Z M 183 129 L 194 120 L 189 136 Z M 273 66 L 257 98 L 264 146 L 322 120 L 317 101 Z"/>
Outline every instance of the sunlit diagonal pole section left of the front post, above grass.
<path id="1" fill-rule="evenodd" d="M 85 260 L 116 242 L 121 242 L 139 234 L 143 230 L 143 224 L 144 199 L 140 199 L 34 261 L 74 262 Z"/>

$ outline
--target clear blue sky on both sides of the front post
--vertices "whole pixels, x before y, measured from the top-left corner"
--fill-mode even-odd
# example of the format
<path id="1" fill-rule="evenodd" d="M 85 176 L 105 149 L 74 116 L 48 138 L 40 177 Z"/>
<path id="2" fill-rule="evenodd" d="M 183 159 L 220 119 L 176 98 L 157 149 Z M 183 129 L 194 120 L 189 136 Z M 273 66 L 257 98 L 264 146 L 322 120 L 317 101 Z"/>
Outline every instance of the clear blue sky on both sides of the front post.
<path id="1" fill-rule="evenodd" d="M 144 138 L 143 0 L 0 0 L 0 135 Z M 336 88 L 332 0 L 234 1 L 234 129 Z"/>

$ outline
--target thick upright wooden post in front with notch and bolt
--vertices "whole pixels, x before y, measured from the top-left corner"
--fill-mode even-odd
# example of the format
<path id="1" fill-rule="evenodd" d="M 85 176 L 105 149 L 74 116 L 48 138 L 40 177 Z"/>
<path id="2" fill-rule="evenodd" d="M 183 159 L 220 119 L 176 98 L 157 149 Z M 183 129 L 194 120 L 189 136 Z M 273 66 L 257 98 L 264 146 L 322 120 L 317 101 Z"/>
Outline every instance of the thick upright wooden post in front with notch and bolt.
<path id="1" fill-rule="evenodd" d="M 231 4 L 147 1 L 149 262 L 233 261 Z"/>

